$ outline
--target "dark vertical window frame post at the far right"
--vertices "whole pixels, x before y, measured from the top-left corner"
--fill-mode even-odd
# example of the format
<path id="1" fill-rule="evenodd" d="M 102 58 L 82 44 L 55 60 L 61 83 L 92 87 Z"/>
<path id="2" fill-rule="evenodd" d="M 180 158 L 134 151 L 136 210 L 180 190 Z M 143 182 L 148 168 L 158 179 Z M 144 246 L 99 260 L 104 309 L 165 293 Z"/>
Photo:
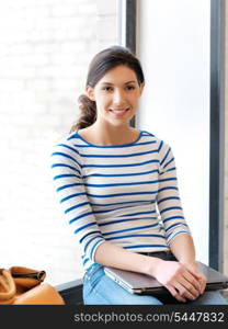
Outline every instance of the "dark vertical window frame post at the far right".
<path id="1" fill-rule="evenodd" d="M 210 0 L 209 265 L 224 263 L 225 1 Z"/>

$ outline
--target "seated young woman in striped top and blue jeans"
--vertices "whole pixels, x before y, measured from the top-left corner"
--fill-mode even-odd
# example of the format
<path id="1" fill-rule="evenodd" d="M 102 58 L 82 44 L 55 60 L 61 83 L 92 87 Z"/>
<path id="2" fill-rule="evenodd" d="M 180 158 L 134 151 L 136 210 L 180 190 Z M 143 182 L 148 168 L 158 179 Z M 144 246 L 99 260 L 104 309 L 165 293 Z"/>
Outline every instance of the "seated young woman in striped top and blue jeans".
<path id="1" fill-rule="evenodd" d="M 129 125 L 144 86 L 128 49 L 96 54 L 81 116 L 52 155 L 57 194 L 81 247 L 84 304 L 224 304 L 218 293 L 204 293 L 170 146 Z M 169 300 L 127 293 L 104 265 L 155 276 Z"/>

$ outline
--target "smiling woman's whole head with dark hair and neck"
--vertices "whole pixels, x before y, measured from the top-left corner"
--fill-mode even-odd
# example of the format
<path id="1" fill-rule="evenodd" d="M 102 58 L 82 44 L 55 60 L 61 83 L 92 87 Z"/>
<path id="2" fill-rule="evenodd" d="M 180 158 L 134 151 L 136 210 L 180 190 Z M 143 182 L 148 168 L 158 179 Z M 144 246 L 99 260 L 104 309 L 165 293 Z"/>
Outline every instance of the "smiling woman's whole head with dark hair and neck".
<path id="1" fill-rule="evenodd" d="M 139 132 L 129 126 L 144 89 L 138 59 L 126 48 L 113 46 L 94 56 L 79 98 L 81 117 L 72 126 L 88 141 L 98 145 L 129 143 Z"/>

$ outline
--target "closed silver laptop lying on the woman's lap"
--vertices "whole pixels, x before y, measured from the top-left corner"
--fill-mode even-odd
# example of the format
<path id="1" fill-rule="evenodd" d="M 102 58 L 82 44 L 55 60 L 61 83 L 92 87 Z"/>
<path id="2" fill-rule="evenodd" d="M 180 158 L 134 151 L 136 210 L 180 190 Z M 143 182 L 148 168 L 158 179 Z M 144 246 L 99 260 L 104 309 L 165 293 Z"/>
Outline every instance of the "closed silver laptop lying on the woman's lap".
<path id="1" fill-rule="evenodd" d="M 206 291 L 225 290 L 228 287 L 228 276 L 205 265 L 202 262 L 197 263 L 200 265 L 200 271 L 203 272 L 207 279 Z M 169 291 L 162 286 L 161 283 L 147 274 L 110 266 L 105 266 L 104 272 L 109 277 L 132 294 L 169 294 Z"/>

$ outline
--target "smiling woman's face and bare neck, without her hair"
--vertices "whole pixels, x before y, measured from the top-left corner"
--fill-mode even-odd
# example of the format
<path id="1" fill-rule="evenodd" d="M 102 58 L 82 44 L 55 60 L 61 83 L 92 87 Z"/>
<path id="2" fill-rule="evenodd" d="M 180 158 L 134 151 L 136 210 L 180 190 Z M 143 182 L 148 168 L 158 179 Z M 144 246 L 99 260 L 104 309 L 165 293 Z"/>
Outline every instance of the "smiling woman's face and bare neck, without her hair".
<path id="1" fill-rule="evenodd" d="M 129 121 L 136 114 L 142 87 L 135 71 L 123 65 L 105 73 L 94 88 L 88 86 L 88 97 L 96 104 L 96 121 L 80 134 L 88 140 L 92 135 L 93 143 L 95 136 L 100 145 L 135 140 L 138 132 L 129 126 Z"/>

